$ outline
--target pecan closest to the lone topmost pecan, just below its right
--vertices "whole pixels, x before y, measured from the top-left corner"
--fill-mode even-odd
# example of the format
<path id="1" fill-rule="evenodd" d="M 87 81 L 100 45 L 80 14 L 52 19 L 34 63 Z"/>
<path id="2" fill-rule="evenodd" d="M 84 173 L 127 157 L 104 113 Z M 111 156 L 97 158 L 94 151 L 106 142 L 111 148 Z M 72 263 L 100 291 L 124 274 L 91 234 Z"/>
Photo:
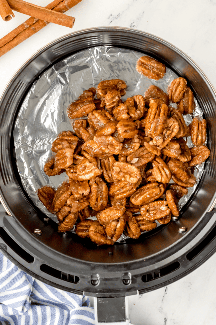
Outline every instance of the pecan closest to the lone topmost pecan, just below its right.
<path id="1" fill-rule="evenodd" d="M 167 88 L 169 99 L 172 100 L 173 103 L 179 102 L 186 91 L 186 87 L 187 80 L 185 80 L 185 78 L 179 77 L 174 79 Z"/>

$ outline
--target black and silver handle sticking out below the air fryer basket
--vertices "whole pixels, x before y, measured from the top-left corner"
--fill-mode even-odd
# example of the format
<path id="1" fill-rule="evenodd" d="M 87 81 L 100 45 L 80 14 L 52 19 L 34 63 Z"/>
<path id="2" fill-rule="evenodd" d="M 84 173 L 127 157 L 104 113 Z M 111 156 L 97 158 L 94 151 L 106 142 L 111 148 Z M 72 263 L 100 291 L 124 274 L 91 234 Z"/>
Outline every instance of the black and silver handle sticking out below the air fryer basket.
<path id="1" fill-rule="evenodd" d="M 115 298 L 94 297 L 95 325 L 129 325 L 128 296 Z"/>

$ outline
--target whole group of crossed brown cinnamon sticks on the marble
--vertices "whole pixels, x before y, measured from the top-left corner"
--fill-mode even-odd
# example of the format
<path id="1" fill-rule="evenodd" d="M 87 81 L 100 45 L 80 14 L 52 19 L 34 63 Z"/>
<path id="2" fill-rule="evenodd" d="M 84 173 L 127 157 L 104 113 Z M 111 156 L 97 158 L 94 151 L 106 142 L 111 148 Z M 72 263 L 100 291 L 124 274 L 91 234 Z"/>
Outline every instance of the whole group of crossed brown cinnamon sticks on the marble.
<path id="1" fill-rule="evenodd" d="M 54 0 L 43 8 L 22 0 L 0 0 L 0 15 L 3 20 L 8 21 L 14 17 L 12 10 L 32 16 L 0 39 L 0 56 L 40 31 L 49 22 L 72 28 L 75 18 L 63 14 L 80 1 L 82 0 Z"/>

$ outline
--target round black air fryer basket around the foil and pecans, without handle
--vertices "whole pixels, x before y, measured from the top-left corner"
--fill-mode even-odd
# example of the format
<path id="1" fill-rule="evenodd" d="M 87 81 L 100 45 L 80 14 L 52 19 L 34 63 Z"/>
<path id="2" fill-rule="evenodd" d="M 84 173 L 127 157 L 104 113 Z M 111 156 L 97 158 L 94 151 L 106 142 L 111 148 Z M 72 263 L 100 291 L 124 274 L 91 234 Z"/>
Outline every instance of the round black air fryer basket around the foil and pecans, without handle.
<path id="1" fill-rule="evenodd" d="M 51 65 L 82 49 L 114 45 L 164 62 L 188 80 L 208 121 L 210 157 L 178 221 L 143 233 L 138 240 L 97 247 L 57 224 L 31 202 L 17 171 L 13 128 L 29 87 Z M 154 290 L 195 269 L 216 251 L 216 93 L 199 67 L 164 40 L 129 28 L 100 27 L 66 35 L 48 44 L 15 74 L 0 102 L 0 248 L 21 269 L 63 290 L 120 297 Z M 187 230 L 180 233 L 180 227 Z M 40 229 L 41 233 L 35 233 Z"/>

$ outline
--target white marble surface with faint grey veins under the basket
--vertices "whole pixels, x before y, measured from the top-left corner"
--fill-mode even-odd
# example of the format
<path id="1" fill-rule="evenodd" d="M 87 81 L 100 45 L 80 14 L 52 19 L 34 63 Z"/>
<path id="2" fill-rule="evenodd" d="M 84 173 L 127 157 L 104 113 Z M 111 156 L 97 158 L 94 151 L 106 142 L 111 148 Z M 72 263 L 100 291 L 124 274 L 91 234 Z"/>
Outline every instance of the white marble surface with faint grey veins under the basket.
<path id="1" fill-rule="evenodd" d="M 32 0 L 45 6 L 49 0 Z M 49 24 L 0 57 L 0 94 L 18 68 L 42 46 L 70 32 L 96 26 L 131 27 L 159 36 L 187 53 L 216 87 L 215 0 L 83 0 L 67 12 L 73 30 Z M 28 17 L 0 20 L 0 38 Z M 216 254 L 198 269 L 165 288 L 129 297 L 134 325 L 214 325 Z"/>

